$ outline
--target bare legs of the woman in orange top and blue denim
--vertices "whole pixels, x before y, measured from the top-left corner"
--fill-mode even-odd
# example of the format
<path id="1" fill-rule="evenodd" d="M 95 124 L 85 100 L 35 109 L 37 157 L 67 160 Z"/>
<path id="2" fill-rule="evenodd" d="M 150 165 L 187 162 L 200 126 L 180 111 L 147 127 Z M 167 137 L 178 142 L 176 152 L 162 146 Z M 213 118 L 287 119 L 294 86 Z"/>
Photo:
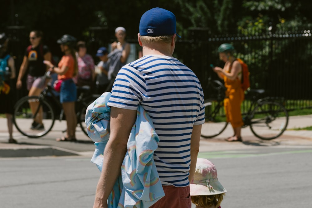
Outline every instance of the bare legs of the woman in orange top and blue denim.
<path id="1" fill-rule="evenodd" d="M 75 113 L 75 102 L 65 102 L 62 104 L 67 123 L 67 139 L 76 139 L 77 118 Z"/>

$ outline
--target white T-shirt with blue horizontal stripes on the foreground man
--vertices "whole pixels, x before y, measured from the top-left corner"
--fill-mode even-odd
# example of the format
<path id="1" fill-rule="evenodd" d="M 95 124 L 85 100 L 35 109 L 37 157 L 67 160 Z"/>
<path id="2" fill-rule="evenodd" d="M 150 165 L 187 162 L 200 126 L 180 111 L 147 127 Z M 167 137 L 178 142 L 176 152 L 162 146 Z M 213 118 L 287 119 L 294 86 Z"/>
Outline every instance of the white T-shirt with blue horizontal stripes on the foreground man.
<path id="1" fill-rule="evenodd" d="M 108 106 L 149 114 L 160 141 L 154 161 L 162 185 L 188 186 L 193 125 L 204 123 L 204 95 L 197 76 L 170 56 L 149 55 L 123 66 Z"/>

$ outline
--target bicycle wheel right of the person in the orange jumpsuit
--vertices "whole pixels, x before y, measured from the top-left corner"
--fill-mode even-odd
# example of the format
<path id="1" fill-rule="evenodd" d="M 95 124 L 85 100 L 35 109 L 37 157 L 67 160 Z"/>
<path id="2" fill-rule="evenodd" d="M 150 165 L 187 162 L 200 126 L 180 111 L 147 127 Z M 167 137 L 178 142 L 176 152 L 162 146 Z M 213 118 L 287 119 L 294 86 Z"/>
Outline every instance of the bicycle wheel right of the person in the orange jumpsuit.
<path id="1" fill-rule="evenodd" d="M 273 101 L 259 103 L 251 113 L 250 129 L 261 139 L 279 137 L 287 128 L 288 113 L 285 107 Z"/>

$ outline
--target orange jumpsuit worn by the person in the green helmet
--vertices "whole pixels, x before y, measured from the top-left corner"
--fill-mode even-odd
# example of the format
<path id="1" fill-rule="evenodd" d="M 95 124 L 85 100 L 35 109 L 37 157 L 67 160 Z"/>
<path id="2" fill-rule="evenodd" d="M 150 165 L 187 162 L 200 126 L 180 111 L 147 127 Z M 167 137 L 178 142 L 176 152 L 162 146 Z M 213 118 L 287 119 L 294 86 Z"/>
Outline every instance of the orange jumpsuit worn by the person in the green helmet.
<path id="1" fill-rule="evenodd" d="M 231 71 L 231 67 L 229 71 Z M 230 122 L 233 128 L 241 127 L 244 125 L 241 118 L 241 103 L 244 100 L 244 91 L 241 89 L 241 80 L 227 79 L 224 76 L 224 86 L 227 88 L 224 99 L 224 110 L 227 116 L 227 122 Z"/>

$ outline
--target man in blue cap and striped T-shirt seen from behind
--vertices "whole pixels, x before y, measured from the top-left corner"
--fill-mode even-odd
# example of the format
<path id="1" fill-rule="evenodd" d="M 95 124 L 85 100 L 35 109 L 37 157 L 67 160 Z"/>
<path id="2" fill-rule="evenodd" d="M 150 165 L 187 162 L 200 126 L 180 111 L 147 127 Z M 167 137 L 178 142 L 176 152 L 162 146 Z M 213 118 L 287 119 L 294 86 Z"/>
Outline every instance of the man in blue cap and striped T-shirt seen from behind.
<path id="1" fill-rule="evenodd" d="M 172 57 L 176 36 L 172 12 L 157 7 L 141 17 L 138 41 L 143 57 L 119 70 L 108 102 L 110 139 L 94 207 L 107 207 L 139 105 L 151 117 L 160 139 L 154 161 L 166 196 L 152 207 L 191 207 L 189 184 L 204 123 L 204 98 L 197 76 Z"/>

